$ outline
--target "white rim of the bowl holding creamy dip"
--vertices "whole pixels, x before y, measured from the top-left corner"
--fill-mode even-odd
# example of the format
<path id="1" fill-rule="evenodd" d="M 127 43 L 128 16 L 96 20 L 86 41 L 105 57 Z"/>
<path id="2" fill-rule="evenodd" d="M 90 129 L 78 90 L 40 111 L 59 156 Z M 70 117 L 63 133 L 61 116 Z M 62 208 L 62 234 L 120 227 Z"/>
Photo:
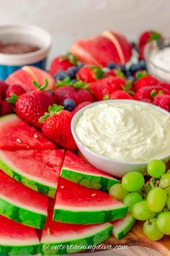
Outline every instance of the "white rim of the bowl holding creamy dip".
<path id="1" fill-rule="evenodd" d="M 86 145 L 84 145 L 79 139 L 78 139 L 78 137 L 77 137 L 77 135 L 76 135 L 76 132 L 75 132 L 75 127 L 76 127 L 76 123 L 77 123 L 77 121 L 75 121 L 78 117 L 77 116 L 79 116 L 79 114 L 83 114 L 83 112 L 87 109 L 87 108 L 91 108 L 91 107 L 93 107 L 93 106 L 96 106 L 96 105 L 99 105 L 99 104 L 104 104 L 104 103 L 113 103 L 113 102 L 117 102 L 117 101 L 119 101 L 119 102 L 122 102 L 122 103 L 136 103 L 136 104 L 143 104 L 143 105 L 145 105 L 145 104 L 148 104 L 149 106 L 152 106 L 153 108 L 155 108 L 155 109 L 157 109 L 158 111 L 161 111 L 162 113 L 164 113 L 164 114 L 166 114 L 166 115 L 168 115 L 168 116 L 170 116 L 170 113 L 168 112 L 168 111 L 166 111 L 164 108 L 160 108 L 160 107 L 158 107 L 158 106 L 156 106 L 156 105 L 153 105 L 153 104 L 151 104 L 151 103 L 148 103 L 148 102 L 144 102 L 144 101 L 135 101 L 135 100 L 120 100 L 120 99 L 118 99 L 118 100 L 107 100 L 107 101 L 97 101 L 97 102 L 94 102 L 94 103 L 91 103 L 91 104 L 89 104 L 89 105 L 87 105 L 87 106 L 85 106 L 84 108 L 81 108 L 78 112 L 76 112 L 76 114 L 73 116 L 73 118 L 72 118 L 72 120 L 71 120 L 71 132 L 72 132 L 72 134 L 73 134 L 73 137 L 75 138 L 75 140 L 77 140 L 80 144 L 81 144 L 81 147 L 83 147 L 83 148 L 85 148 L 87 151 L 89 151 L 89 153 L 91 153 L 92 155 L 94 155 L 94 156 L 97 156 L 97 157 L 99 157 L 99 158 L 102 158 L 104 161 L 113 161 L 113 162 L 116 162 L 116 163 L 125 163 L 125 164 L 128 164 L 128 165 L 136 165 L 136 166 L 138 166 L 138 165 L 148 165 L 148 163 L 150 162 L 150 161 L 144 161 L 144 162 L 127 162 L 127 161 L 120 161 L 120 160 L 117 160 L 117 159 L 113 159 L 113 158 L 108 158 L 107 156 L 104 156 L 104 155 L 99 155 L 99 154 L 97 154 L 97 153 L 95 153 L 94 151 L 92 151 L 92 150 L 90 150 L 88 147 L 86 147 Z M 79 118 L 80 118 L 80 116 L 79 116 Z M 75 124 L 74 124 L 74 122 L 75 122 Z M 167 155 L 164 155 L 164 156 L 162 156 L 161 158 L 157 158 L 157 159 L 159 159 L 159 160 L 161 160 L 161 159 L 164 159 L 164 158 L 169 158 L 170 157 L 170 153 L 169 154 L 167 154 Z"/>

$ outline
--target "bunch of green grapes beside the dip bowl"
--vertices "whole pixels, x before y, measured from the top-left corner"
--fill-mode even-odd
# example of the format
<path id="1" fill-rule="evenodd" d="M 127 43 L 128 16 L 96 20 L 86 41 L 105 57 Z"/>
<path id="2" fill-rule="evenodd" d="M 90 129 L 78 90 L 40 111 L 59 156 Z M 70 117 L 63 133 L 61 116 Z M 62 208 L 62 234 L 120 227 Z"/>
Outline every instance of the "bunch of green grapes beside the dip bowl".
<path id="1" fill-rule="evenodd" d="M 121 184 L 109 189 L 109 195 L 128 206 L 128 211 L 139 221 L 145 221 L 143 232 L 148 239 L 157 241 L 170 235 L 170 170 L 160 160 L 148 163 L 148 182 L 143 174 L 130 172 Z"/>

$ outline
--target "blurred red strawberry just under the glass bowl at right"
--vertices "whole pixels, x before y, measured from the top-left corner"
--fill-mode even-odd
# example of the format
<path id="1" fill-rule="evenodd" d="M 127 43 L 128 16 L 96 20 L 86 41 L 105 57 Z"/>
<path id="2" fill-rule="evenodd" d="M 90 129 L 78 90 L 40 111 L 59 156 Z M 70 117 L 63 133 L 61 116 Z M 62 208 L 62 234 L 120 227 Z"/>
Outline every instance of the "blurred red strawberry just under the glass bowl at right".
<path id="1" fill-rule="evenodd" d="M 139 74 L 139 73 L 138 73 Z M 137 76 L 138 76 L 137 74 Z M 138 90 L 140 88 L 150 86 L 150 85 L 161 85 L 161 82 L 156 79 L 155 77 L 151 76 L 150 74 L 144 75 L 143 77 L 140 77 L 136 84 L 135 84 L 135 90 Z"/>

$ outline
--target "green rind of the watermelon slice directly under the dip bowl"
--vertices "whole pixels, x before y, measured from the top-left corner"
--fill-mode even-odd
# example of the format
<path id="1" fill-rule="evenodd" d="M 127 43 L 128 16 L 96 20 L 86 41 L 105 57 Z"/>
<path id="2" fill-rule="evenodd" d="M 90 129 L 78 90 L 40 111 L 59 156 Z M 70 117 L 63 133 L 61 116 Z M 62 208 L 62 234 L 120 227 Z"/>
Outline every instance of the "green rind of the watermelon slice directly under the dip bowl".
<path id="1" fill-rule="evenodd" d="M 76 182 L 84 187 L 89 187 L 91 189 L 98 189 L 107 192 L 112 185 L 120 183 L 117 179 L 109 179 L 109 177 L 84 174 L 81 170 L 74 171 L 68 168 L 61 169 L 61 177 L 70 180 L 71 182 Z"/>

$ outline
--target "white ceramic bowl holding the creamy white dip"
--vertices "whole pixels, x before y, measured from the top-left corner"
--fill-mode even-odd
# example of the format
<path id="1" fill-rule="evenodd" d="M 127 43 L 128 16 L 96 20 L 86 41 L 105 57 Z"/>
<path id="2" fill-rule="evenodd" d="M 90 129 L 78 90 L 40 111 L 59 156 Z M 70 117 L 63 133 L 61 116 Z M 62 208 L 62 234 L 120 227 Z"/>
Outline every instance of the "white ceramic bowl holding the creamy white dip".
<path id="1" fill-rule="evenodd" d="M 132 100 L 110 100 L 107 101 L 107 103 L 110 102 L 128 102 L 128 103 L 138 103 L 138 104 L 149 104 L 142 101 L 132 101 Z M 141 171 L 146 168 L 147 162 L 125 162 L 125 161 L 117 161 L 111 158 L 107 158 L 105 156 L 99 155 L 97 153 L 94 153 L 89 148 L 87 148 L 85 145 L 83 145 L 79 138 L 76 135 L 75 127 L 78 119 L 80 116 L 84 113 L 84 111 L 87 108 L 91 108 L 93 106 L 97 106 L 98 104 L 105 104 L 106 101 L 98 101 L 96 103 L 91 103 L 88 106 L 85 106 L 84 108 L 81 108 L 74 116 L 71 121 L 71 131 L 74 137 L 74 140 L 76 142 L 76 145 L 78 146 L 79 150 L 81 151 L 82 155 L 86 158 L 89 163 L 91 163 L 93 166 L 99 168 L 102 171 L 105 171 L 107 174 L 112 174 L 113 176 L 122 177 L 124 174 L 130 172 L 130 171 Z M 158 111 L 161 111 L 162 113 L 169 115 L 170 113 L 165 111 L 162 108 L 159 108 L 158 106 L 151 105 L 153 108 L 156 108 Z M 159 158 L 165 163 L 170 160 L 170 153 L 169 155 L 165 155 L 164 157 Z"/>

